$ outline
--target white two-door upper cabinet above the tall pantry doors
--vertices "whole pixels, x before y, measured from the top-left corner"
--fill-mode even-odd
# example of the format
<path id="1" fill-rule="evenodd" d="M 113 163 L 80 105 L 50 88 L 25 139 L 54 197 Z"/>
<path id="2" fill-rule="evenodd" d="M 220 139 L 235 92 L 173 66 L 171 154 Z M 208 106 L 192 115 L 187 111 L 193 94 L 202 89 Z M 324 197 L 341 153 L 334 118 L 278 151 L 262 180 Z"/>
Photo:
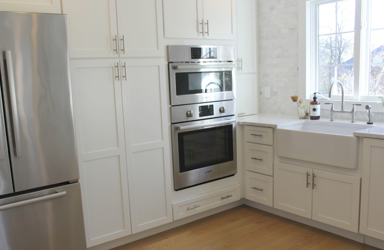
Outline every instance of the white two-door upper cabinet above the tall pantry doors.
<path id="1" fill-rule="evenodd" d="M 70 58 L 164 56 L 161 0 L 62 0 Z"/>

